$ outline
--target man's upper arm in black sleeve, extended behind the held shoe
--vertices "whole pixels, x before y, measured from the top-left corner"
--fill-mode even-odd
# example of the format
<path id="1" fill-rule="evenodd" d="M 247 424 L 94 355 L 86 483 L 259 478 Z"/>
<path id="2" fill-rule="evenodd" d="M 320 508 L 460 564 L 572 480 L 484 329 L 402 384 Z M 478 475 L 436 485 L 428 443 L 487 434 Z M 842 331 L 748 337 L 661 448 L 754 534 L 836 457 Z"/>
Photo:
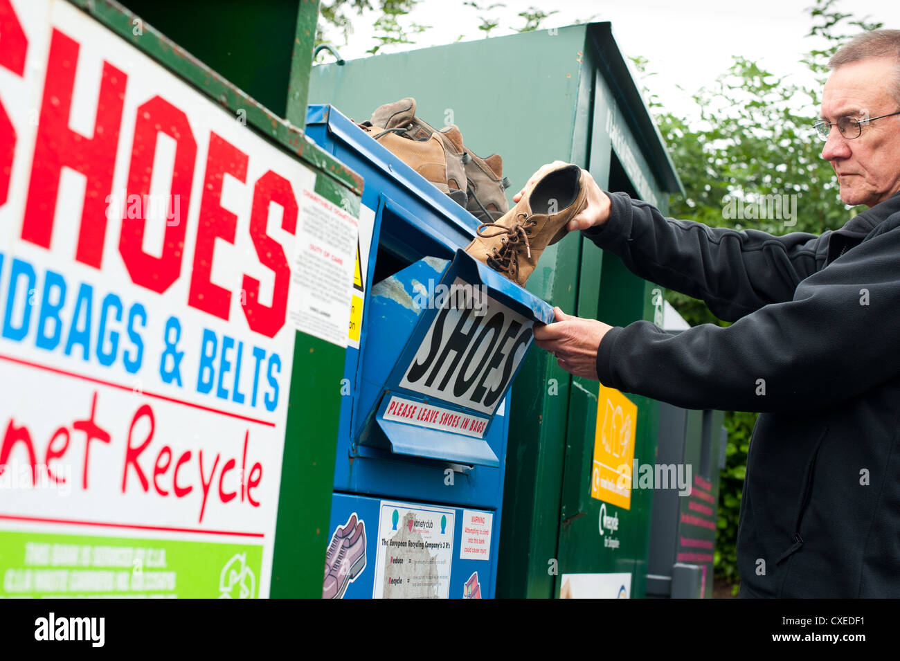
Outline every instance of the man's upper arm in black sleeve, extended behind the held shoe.
<path id="1" fill-rule="evenodd" d="M 704 300 L 726 321 L 790 300 L 797 284 L 825 262 L 830 231 L 774 237 L 753 229 L 708 228 L 665 218 L 624 192 L 607 194 L 608 219 L 583 230 L 585 237 L 645 280 Z"/>

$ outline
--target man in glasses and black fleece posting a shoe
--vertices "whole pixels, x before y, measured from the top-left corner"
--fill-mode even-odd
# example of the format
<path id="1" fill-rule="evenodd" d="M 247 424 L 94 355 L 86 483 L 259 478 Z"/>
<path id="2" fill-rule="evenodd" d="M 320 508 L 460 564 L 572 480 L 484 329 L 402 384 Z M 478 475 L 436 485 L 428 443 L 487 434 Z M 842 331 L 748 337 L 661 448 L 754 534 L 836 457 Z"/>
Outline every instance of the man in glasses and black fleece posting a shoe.
<path id="1" fill-rule="evenodd" d="M 734 324 L 668 335 L 557 308 L 535 330 L 572 374 L 686 408 L 761 412 L 742 597 L 900 596 L 900 31 L 861 35 L 829 64 L 822 157 L 842 201 L 869 210 L 821 237 L 773 237 L 665 219 L 591 179 L 569 229 Z"/>

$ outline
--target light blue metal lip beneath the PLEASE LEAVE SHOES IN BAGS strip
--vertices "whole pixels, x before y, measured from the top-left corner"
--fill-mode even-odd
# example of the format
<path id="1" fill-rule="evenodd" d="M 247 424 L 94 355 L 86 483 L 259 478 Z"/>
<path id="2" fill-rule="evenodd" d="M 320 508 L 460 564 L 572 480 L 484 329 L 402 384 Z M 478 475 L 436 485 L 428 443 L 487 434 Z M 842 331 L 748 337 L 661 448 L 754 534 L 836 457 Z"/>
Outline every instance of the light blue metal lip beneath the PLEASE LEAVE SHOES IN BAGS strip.
<path id="1" fill-rule="evenodd" d="M 377 418 L 377 421 L 391 442 L 391 451 L 397 454 L 475 466 L 500 467 L 500 460 L 486 441 L 392 420 Z"/>

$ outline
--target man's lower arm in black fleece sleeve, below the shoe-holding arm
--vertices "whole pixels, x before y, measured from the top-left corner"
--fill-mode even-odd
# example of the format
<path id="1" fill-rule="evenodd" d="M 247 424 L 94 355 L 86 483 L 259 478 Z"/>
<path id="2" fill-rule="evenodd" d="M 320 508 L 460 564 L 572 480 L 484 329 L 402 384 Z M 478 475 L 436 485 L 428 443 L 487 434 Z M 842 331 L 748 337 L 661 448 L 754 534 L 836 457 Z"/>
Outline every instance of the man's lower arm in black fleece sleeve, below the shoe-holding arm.
<path id="1" fill-rule="evenodd" d="M 612 328 L 599 342 L 599 380 L 676 406 L 725 411 L 821 408 L 855 397 L 900 372 L 896 255 L 900 228 L 811 275 L 794 300 L 727 328 L 707 324 L 680 335 L 645 321 Z"/>

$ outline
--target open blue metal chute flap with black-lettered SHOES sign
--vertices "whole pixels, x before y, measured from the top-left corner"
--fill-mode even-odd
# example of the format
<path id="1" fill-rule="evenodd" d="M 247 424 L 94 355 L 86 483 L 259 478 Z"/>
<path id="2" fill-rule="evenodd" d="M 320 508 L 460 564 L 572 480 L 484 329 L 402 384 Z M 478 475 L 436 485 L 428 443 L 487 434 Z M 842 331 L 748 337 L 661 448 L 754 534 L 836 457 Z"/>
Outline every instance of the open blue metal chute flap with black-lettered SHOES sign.
<path id="1" fill-rule="evenodd" d="M 477 312 L 471 322 L 466 321 L 469 312 L 453 317 L 448 308 L 450 301 L 439 304 L 434 298 L 436 281 L 445 290 L 447 285 L 459 281 L 470 283 L 464 286 L 483 287 L 484 304 L 495 301 L 489 308 L 493 312 L 483 321 L 478 320 Z M 471 295 L 475 293 L 472 290 Z M 366 440 L 363 432 L 375 423 L 394 452 L 497 466 L 496 456 L 482 439 L 532 342 L 530 325 L 552 321 L 553 308 L 463 250 L 456 251 L 452 263 L 432 257 L 419 260 L 375 285 L 371 296 L 362 381 L 363 385 L 371 383 L 374 387 L 361 393 L 357 425 L 360 442 L 372 442 Z M 468 330 L 463 332 L 467 323 Z M 451 350 L 450 343 L 457 335 L 465 342 L 456 343 Z M 477 343 L 484 344 L 473 344 L 476 335 Z M 488 347 L 490 360 L 488 353 L 482 354 L 472 363 L 477 367 L 471 371 L 468 366 L 480 351 L 479 346 Z M 517 349 L 522 346 L 524 349 Z M 453 353 L 448 354 L 450 351 Z M 464 355 L 467 358 L 463 361 Z M 415 376 L 411 372 L 413 362 Z M 450 365 L 449 371 L 436 380 L 443 364 Z M 430 374 L 428 379 L 426 372 Z M 467 376 L 463 387 L 458 388 L 464 373 Z M 388 410 L 392 401 L 397 406 L 418 407 L 420 415 L 392 414 Z M 437 417 L 431 415 L 441 416 L 440 422 L 436 423 Z M 410 417 L 410 421 L 405 417 Z M 445 423 L 445 419 L 451 422 Z"/>

